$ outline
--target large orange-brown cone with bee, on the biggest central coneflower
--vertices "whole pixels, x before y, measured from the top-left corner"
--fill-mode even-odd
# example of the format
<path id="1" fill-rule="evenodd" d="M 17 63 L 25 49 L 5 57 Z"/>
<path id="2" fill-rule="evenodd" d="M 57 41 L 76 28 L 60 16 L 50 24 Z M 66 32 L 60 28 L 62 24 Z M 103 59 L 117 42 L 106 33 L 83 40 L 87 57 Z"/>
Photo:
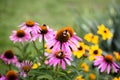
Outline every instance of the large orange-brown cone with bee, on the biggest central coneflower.
<path id="1" fill-rule="evenodd" d="M 56 40 L 61 43 L 67 42 L 70 39 L 70 33 L 67 30 L 60 29 L 57 31 Z"/>

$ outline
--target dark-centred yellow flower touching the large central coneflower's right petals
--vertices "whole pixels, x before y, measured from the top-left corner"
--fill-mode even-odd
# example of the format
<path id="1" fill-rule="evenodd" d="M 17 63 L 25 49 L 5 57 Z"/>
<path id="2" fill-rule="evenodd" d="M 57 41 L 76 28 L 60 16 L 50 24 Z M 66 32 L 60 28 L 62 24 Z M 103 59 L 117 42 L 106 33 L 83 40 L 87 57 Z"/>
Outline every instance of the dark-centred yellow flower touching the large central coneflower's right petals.
<path id="1" fill-rule="evenodd" d="M 85 53 L 85 44 L 83 42 L 80 42 L 80 47 L 78 47 L 78 51 L 74 51 L 73 55 L 77 58 L 81 58 L 83 54 Z"/>

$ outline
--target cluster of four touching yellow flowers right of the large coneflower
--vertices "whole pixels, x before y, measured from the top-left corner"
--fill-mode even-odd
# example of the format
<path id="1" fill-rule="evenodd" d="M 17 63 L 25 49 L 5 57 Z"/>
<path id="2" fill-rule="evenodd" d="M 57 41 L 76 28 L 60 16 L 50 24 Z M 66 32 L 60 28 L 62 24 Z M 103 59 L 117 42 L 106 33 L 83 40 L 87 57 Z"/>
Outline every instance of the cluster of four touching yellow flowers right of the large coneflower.
<path id="1" fill-rule="evenodd" d="M 108 28 L 106 28 L 103 24 L 98 26 L 98 31 L 97 34 L 102 36 L 103 40 L 111 39 L 112 38 L 112 33 Z M 92 33 L 88 33 L 84 36 L 84 39 L 92 43 L 92 46 L 88 46 L 83 42 L 80 42 L 80 47 L 78 47 L 78 51 L 74 51 L 73 54 L 77 58 L 81 58 L 84 54 L 88 54 L 88 59 L 90 61 L 95 59 L 95 56 L 100 56 L 102 55 L 102 49 L 99 48 L 99 36 L 94 35 Z M 116 54 L 117 55 L 117 54 Z"/>

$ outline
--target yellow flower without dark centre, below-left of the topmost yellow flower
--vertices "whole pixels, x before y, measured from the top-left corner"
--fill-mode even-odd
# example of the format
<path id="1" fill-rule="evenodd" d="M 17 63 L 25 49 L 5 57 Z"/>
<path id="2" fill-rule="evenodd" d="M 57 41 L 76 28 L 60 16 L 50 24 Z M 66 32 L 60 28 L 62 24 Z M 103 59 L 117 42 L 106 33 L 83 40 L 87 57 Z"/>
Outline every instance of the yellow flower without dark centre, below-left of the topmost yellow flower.
<path id="1" fill-rule="evenodd" d="M 92 33 L 88 33 L 84 36 L 84 39 L 87 40 L 88 42 L 98 44 L 98 36 L 93 35 Z"/>

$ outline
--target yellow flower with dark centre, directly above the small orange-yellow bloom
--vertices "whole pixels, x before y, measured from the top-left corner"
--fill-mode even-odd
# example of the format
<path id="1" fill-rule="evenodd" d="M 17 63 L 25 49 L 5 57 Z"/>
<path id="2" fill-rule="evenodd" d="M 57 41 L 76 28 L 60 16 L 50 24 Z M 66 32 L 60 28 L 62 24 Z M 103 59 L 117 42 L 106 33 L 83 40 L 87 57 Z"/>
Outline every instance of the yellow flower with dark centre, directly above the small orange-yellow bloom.
<path id="1" fill-rule="evenodd" d="M 91 50 L 89 52 L 89 60 L 94 60 L 95 56 L 101 56 L 102 50 L 99 48 L 98 45 L 91 46 Z"/>

